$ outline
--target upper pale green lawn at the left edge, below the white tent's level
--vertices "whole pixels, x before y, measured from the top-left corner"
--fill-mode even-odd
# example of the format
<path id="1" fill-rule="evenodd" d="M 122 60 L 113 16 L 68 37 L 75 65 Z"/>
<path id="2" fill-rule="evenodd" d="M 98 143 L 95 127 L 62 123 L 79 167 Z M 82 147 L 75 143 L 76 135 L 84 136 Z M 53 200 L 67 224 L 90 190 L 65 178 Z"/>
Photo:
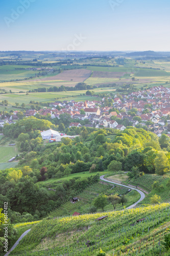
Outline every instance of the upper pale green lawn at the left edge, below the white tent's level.
<path id="1" fill-rule="evenodd" d="M 15 146 L 0 146 L 0 163 L 7 162 L 12 157 L 16 156 L 17 153 Z"/>

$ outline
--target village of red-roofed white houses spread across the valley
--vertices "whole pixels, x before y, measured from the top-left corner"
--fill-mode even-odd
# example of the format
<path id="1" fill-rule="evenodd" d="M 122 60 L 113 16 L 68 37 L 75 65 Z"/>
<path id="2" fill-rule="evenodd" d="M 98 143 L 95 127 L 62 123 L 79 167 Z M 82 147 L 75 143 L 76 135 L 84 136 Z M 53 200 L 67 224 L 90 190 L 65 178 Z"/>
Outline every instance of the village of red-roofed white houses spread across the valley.
<path id="1" fill-rule="evenodd" d="M 158 137 L 162 133 L 170 137 L 169 97 L 170 89 L 159 86 L 128 95 L 115 94 L 101 101 L 55 101 L 50 103 L 50 108 L 43 107 L 39 111 L 30 109 L 24 115 L 29 117 L 40 114 L 60 119 L 61 114 L 68 113 L 72 119 L 69 127 L 80 127 L 81 120 L 86 120 L 86 127 L 109 127 L 124 131 L 127 126 L 137 126 L 154 132 Z M 112 102 L 111 106 L 107 106 L 106 102 Z M 14 111 L 10 117 L 0 120 L 0 126 L 15 123 L 18 112 Z"/>

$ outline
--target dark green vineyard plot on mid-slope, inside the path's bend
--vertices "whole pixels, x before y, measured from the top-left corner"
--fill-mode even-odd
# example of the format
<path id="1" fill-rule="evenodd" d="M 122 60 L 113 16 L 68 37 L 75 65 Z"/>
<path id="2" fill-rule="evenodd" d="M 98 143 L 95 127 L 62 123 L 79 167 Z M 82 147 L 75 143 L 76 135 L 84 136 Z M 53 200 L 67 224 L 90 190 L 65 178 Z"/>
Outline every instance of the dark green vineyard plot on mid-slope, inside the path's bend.
<path id="1" fill-rule="evenodd" d="M 94 183 L 88 188 L 83 190 L 82 193 L 76 195 L 79 198 L 79 202 L 71 203 L 70 201 L 63 203 L 58 209 L 50 212 L 50 217 L 61 217 L 64 215 L 73 214 L 74 211 L 81 212 L 81 214 L 88 213 L 88 208 L 90 207 L 93 199 L 99 194 L 121 194 L 125 195 L 128 193 L 127 188 L 113 186 L 110 184 Z M 107 206 L 107 210 L 113 210 L 113 206 L 110 204 Z"/>

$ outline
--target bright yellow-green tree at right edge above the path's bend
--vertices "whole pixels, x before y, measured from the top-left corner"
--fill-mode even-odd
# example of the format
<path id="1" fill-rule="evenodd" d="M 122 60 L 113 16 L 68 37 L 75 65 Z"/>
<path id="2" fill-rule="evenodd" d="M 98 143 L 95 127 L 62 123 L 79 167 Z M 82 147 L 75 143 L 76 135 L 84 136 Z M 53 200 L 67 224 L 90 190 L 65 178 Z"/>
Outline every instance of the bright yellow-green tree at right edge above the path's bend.
<path id="1" fill-rule="evenodd" d="M 163 175 L 169 170 L 169 161 L 166 157 L 166 153 L 163 151 L 159 151 L 157 157 L 155 158 L 155 172 L 158 175 Z"/>

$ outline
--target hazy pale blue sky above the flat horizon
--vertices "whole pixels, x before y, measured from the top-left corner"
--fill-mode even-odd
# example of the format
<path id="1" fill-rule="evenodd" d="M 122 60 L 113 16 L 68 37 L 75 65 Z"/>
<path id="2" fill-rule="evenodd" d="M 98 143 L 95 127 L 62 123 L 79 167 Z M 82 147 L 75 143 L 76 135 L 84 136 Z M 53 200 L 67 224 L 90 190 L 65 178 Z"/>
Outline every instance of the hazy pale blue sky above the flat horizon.
<path id="1" fill-rule="evenodd" d="M 169 0 L 1 0 L 0 51 L 170 51 Z"/>

